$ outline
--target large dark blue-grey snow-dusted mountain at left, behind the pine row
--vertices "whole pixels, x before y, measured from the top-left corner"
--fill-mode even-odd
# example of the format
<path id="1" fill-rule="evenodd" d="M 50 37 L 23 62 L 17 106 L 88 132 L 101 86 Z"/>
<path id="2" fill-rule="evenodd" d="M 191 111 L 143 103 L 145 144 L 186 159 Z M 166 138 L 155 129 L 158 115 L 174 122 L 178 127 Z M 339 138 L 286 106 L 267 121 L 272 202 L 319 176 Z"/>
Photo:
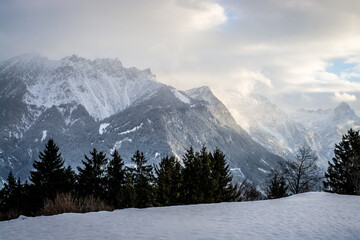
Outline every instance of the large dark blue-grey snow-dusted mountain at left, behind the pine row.
<path id="1" fill-rule="evenodd" d="M 118 149 L 127 162 L 140 150 L 156 163 L 206 144 L 226 153 L 234 174 L 257 184 L 283 160 L 239 127 L 209 88 L 178 91 L 118 60 L 22 55 L 0 63 L 0 82 L 3 179 L 10 170 L 27 177 L 49 138 L 72 166 L 93 147 Z"/>

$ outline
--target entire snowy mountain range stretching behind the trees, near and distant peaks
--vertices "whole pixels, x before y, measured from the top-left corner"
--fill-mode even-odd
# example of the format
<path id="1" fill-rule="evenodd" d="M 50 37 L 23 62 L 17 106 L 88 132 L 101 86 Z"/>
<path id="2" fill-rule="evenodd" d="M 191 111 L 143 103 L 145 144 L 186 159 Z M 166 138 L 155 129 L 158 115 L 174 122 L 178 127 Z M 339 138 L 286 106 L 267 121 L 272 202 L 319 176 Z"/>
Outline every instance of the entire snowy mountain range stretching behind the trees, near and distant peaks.
<path id="1" fill-rule="evenodd" d="M 260 95 L 233 94 L 234 119 L 208 87 L 179 91 L 117 59 L 21 55 L 0 63 L 0 83 L 2 182 L 10 170 L 25 180 L 54 138 L 73 167 L 94 147 L 108 155 L 117 149 L 127 163 L 140 150 L 157 163 L 167 154 L 181 161 L 190 146 L 206 144 L 226 153 L 234 176 L 262 184 L 304 144 L 325 169 L 341 135 L 360 127 L 346 103 L 288 114 Z"/>

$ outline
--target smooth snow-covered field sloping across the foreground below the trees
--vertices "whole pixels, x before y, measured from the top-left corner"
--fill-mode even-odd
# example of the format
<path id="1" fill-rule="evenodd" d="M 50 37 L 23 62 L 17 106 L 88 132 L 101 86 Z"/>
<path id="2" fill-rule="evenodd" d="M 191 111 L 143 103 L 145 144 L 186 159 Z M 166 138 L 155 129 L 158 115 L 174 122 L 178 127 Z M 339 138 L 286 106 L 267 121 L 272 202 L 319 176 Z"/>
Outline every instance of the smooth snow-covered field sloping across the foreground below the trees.
<path id="1" fill-rule="evenodd" d="M 360 239 L 360 197 L 305 193 L 256 202 L 19 217 L 0 239 Z"/>

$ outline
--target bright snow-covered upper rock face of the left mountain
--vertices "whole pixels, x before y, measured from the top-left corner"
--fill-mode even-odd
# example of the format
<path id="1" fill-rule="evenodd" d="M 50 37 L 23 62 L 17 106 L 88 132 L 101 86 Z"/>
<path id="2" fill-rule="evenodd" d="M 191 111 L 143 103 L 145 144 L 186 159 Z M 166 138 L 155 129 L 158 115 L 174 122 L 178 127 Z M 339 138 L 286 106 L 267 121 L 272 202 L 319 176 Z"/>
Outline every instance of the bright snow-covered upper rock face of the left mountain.
<path id="1" fill-rule="evenodd" d="M 162 86 L 150 70 L 124 68 L 117 59 L 88 60 L 72 55 L 53 61 L 31 55 L 3 64 L 9 71 L 22 70 L 18 77 L 27 89 L 24 103 L 39 108 L 77 103 L 97 120 L 122 111 Z"/>

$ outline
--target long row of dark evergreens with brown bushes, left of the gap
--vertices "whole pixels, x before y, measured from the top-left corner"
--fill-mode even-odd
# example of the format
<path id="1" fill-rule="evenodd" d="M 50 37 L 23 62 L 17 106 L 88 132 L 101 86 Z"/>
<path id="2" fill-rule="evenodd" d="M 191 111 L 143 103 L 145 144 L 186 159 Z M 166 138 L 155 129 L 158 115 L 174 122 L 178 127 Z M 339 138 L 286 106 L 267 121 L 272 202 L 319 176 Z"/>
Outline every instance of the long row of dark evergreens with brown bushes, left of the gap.
<path id="1" fill-rule="evenodd" d="M 132 156 L 129 166 L 117 150 L 108 159 L 94 148 L 84 158 L 75 173 L 70 166 L 65 167 L 59 147 L 50 139 L 33 163 L 30 183 L 22 184 L 10 172 L 0 191 L 2 219 L 19 214 L 235 201 L 241 195 L 218 148 L 209 152 L 204 146 L 195 152 L 190 147 L 182 158 L 183 165 L 174 156 L 166 156 L 152 166 L 140 151 Z"/>

